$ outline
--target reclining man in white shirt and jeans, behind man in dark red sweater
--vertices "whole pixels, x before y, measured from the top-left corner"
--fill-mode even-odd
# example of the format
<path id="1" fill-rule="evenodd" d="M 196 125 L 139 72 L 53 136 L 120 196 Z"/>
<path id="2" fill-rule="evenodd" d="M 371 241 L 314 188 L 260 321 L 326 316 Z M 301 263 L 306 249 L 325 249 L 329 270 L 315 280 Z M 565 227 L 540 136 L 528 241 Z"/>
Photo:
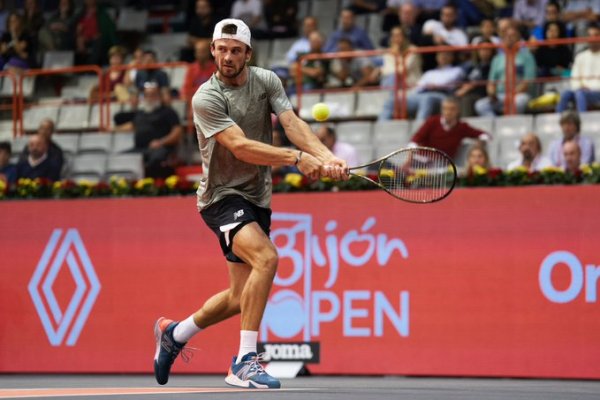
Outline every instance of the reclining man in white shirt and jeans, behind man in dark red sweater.
<path id="1" fill-rule="evenodd" d="M 464 78 L 461 67 L 453 65 L 454 53 L 436 53 L 438 67 L 429 70 L 417 82 L 417 86 L 406 97 L 409 114 L 424 120 L 435 114 L 440 103 L 453 93 Z"/>

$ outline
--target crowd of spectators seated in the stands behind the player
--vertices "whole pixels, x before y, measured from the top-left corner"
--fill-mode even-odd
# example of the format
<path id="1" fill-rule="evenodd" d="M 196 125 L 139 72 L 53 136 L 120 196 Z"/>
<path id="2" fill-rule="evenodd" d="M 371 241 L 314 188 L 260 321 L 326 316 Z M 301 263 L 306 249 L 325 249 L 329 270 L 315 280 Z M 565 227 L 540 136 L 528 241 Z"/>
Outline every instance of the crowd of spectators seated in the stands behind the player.
<path id="1" fill-rule="evenodd" d="M 44 53 L 51 50 L 73 51 L 79 65 L 136 67 L 110 69 L 104 77 L 111 100 L 134 106 L 132 112 L 117 114 L 114 124 L 117 131 L 135 132 L 133 150 L 144 154 L 146 173 L 163 176 L 164 168 L 170 171 L 170 157 L 182 136 L 181 123 L 170 104 L 175 97 L 189 100 L 215 72 L 210 53 L 215 23 L 225 17 L 239 18 L 250 26 L 254 40 L 295 39 L 287 51 L 286 65 L 276 69 L 290 95 L 296 91 L 298 70 L 304 90 L 384 87 L 389 89 L 389 96 L 378 120 L 385 121 L 395 115 L 398 93 L 392 88 L 399 87 L 406 98 L 408 116 L 425 121 L 413 144 L 440 147 L 454 155 L 464 137 L 482 139 L 469 150 L 468 170 L 471 164 L 490 166 L 485 142 L 492 138 L 489 132 L 461 122 L 460 116 L 505 113 L 506 50 L 517 49 L 517 86 L 512 99 L 517 113 L 537 111 L 535 99 L 544 94 L 540 90 L 543 85 L 532 80 L 570 78 L 570 83 L 560 93 L 553 92 L 552 108 L 545 109 L 564 113 L 560 120 L 564 137 L 542 151 L 536 134 L 528 133 L 520 141 L 521 158 L 510 166 L 571 168 L 573 159 L 580 163 L 595 160 L 594 143 L 580 133 L 577 112 L 600 106 L 600 79 L 590 78 L 600 71 L 600 41 L 591 41 L 584 49 L 568 44 L 541 45 L 540 41 L 600 37 L 600 0 L 339 0 L 339 13 L 333 17 L 336 29 L 330 32 L 320 26 L 324 20 L 317 14 L 299 20 L 300 3 L 309 1 L 313 4 L 319 0 L 182 0 L 179 6 L 185 11 L 185 26 L 179 29 L 187 32 L 187 40 L 181 43 L 177 61 L 190 66 L 183 86 L 173 90 L 169 77 L 156 64 L 174 60 L 159 59 L 155 49 L 141 42 L 125 42 L 117 34 L 114 6 L 122 2 L 15 0 L 9 7 L 8 1 L 0 0 L 0 69 L 20 73 L 38 68 Z M 144 7 L 146 3 L 151 2 L 131 1 L 127 5 Z M 376 21 L 381 24 L 377 39 L 358 22 L 374 14 L 380 16 Z M 473 51 L 415 52 L 428 46 L 468 44 L 480 47 Z M 388 52 L 380 57 L 301 58 L 371 49 Z M 98 96 L 96 86 L 89 98 L 96 101 Z M 157 124 L 160 133 L 156 129 L 150 133 Z M 60 176 L 62 155 L 59 163 L 53 155 L 56 150 L 51 134 L 42 131 L 40 128 L 31 136 L 16 171 L 5 170 L 4 154 L 10 154 L 11 148 L 1 144 L 0 167 L 5 179 L 36 176 L 40 165 L 46 164 L 53 170 L 46 171 L 48 177 L 56 178 L 57 168 Z M 324 126 L 316 134 L 331 148 L 337 146 L 346 155 L 351 153 L 349 145 L 335 145 L 332 126 Z"/>

